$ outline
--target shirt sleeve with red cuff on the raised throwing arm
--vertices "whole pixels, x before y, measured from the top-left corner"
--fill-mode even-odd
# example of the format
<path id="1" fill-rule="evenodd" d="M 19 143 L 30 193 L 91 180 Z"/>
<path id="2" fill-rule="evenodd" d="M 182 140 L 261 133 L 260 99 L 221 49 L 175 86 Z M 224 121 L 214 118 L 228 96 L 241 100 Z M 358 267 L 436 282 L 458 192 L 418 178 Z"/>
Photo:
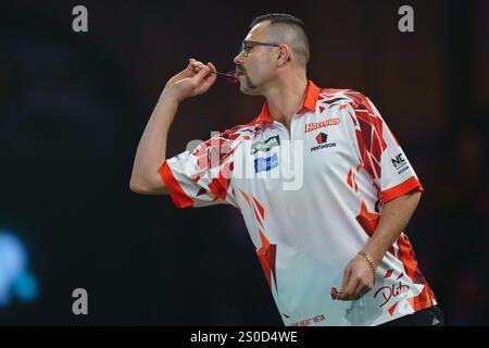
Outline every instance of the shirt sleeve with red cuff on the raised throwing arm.
<path id="1" fill-rule="evenodd" d="M 184 151 L 167 159 L 160 175 L 178 208 L 231 204 L 235 152 L 240 141 L 231 133 L 221 133 L 200 144 L 192 152 Z"/>

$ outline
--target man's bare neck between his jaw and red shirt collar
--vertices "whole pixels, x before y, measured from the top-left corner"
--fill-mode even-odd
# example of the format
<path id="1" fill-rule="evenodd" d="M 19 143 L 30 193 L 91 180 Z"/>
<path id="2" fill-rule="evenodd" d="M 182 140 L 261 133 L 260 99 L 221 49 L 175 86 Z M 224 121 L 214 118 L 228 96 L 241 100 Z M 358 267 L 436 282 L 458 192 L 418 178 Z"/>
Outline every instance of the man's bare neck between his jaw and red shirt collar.
<path id="1" fill-rule="evenodd" d="M 293 114 L 304 103 L 306 90 L 308 78 L 305 75 L 293 76 L 293 78 L 271 88 L 265 96 L 269 117 L 284 123 L 289 128 Z"/>

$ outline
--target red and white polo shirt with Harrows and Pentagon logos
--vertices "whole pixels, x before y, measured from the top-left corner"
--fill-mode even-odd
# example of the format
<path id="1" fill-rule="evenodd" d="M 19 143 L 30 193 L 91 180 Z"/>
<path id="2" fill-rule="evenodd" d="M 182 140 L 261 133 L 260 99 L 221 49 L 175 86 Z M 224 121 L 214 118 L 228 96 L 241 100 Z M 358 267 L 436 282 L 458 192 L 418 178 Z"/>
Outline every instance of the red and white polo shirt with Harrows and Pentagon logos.
<path id="1" fill-rule="evenodd" d="M 160 173 L 179 208 L 240 210 L 285 325 L 378 325 L 436 304 L 404 233 L 371 291 L 356 301 L 333 299 L 384 204 L 423 190 L 386 122 L 358 91 L 309 82 L 290 132 L 265 103 L 251 123 L 166 160 Z"/>

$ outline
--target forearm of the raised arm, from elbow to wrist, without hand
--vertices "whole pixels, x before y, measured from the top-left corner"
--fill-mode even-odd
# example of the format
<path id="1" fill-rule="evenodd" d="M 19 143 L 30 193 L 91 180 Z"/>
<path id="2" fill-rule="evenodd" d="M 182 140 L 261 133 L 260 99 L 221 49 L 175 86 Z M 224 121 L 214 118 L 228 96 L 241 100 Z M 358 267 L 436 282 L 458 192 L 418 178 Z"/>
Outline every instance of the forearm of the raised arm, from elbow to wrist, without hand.
<path id="1" fill-rule="evenodd" d="M 177 109 L 176 100 L 160 96 L 136 151 L 130 177 L 133 190 L 151 191 L 161 184 L 158 171 L 166 159 L 166 138 Z"/>

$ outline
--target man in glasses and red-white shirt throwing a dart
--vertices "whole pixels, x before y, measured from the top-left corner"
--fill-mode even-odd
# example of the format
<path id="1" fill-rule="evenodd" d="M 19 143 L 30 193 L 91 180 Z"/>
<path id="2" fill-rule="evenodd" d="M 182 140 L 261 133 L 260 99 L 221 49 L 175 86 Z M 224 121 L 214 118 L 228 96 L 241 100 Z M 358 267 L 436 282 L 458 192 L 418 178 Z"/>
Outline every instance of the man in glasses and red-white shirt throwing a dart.
<path id="1" fill-rule="evenodd" d="M 309 55 L 300 20 L 255 18 L 235 63 L 241 91 L 266 99 L 260 116 L 165 160 L 179 103 L 216 79 L 190 59 L 161 94 L 130 188 L 238 208 L 286 325 L 442 324 L 402 233 L 423 187 L 366 97 L 308 80 Z"/>

